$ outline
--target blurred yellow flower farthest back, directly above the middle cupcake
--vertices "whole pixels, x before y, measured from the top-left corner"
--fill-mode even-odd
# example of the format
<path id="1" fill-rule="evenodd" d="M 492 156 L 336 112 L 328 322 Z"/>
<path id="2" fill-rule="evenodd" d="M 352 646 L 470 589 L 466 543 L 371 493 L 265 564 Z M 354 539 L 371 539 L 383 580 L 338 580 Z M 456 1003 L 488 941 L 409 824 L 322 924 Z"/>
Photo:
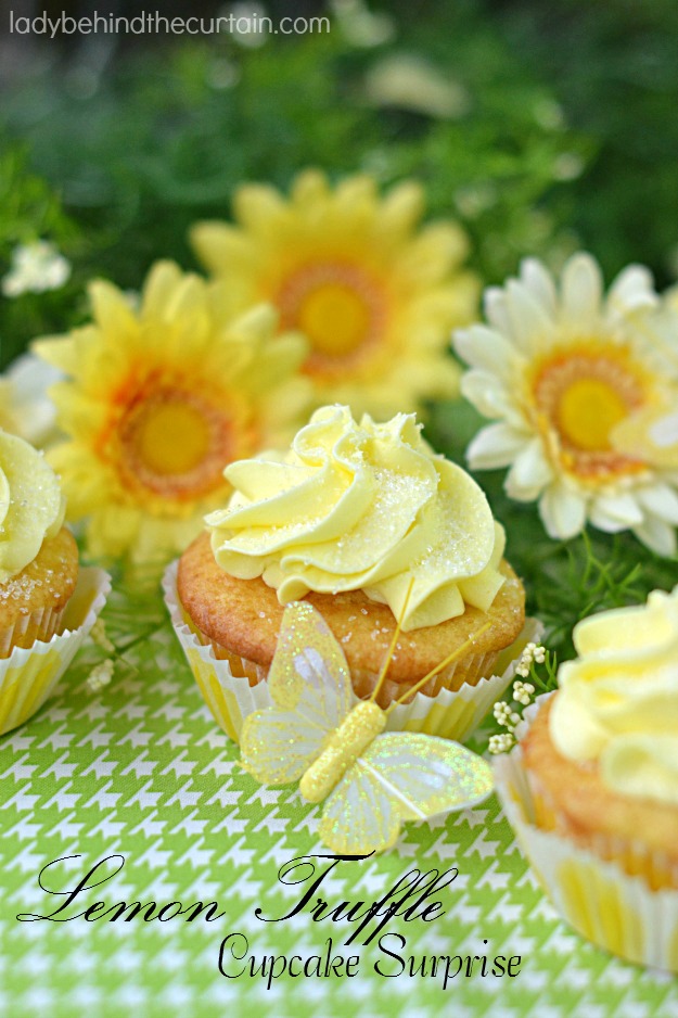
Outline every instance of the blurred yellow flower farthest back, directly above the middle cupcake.
<path id="1" fill-rule="evenodd" d="M 236 192 L 238 225 L 200 222 L 191 239 L 240 306 L 269 301 L 281 328 L 310 344 L 304 364 L 316 403 L 391 417 L 422 397 L 457 395 L 450 330 L 468 323 L 477 282 L 460 269 L 466 239 L 453 222 L 418 229 L 421 188 L 380 199 L 374 181 L 331 189 L 306 170 L 285 200 L 271 187 Z"/>

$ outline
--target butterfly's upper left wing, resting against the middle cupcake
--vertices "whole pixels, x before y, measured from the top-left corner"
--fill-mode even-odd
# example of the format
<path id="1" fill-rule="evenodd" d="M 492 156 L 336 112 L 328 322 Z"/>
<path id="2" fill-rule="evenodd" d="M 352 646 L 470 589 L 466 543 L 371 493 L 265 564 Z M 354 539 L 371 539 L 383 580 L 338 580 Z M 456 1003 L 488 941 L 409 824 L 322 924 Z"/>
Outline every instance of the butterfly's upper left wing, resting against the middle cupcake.
<path id="1" fill-rule="evenodd" d="M 312 605 L 285 608 L 267 683 L 273 705 L 245 720 L 241 764 L 263 784 L 286 785 L 320 755 L 354 702 L 344 652 Z"/>

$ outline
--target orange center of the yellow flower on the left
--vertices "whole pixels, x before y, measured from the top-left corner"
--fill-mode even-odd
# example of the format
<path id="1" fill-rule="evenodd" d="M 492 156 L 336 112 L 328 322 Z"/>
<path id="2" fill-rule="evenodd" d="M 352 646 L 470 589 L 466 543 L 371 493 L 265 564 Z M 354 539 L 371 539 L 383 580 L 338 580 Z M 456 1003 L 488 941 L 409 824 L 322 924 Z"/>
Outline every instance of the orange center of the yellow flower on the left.
<path id="1" fill-rule="evenodd" d="M 239 444 L 226 408 L 151 378 L 125 399 L 110 455 L 128 491 L 192 501 L 225 485 Z"/>

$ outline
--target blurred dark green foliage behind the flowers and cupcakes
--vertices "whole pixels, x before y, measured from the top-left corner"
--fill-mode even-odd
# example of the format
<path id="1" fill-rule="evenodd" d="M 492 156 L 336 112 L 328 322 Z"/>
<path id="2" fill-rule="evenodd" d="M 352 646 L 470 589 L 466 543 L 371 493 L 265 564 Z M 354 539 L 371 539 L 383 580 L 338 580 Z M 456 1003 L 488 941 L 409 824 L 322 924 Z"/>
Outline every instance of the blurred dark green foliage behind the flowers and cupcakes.
<path id="1" fill-rule="evenodd" d="M 107 9 L 138 13 L 127 7 Z M 228 10 L 204 2 L 191 13 Z M 246 179 L 284 188 L 314 164 L 332 176 L 367 170 L 384 186 L 419 178 L 430 215 L 463 222 L 486 283 L 524 255 L 558 267 L 579 246 L 607 278 L 638 260 L 660 287 L 675 280 L 675 0 L 273 0 L 231 10 L 322 13 L 331 30 L 5 34 L 0 277 L 16 246 L 37 238 L 54 242 L 73 271 L 57 290 L 0 297 L 0 367 L 34 336 L 81 321 L 92 276 L 136 290 L 158 257 L 195 268 L 191 222 L 228 217 Z M 477 425 L 470 407 L 438 406 L 427 434 L 463 462 Z M 628 534 L 550 542 L 534 506 L 506 498 L 501 475 L 479 480 L 559 653 L 572 652 L 578 618 L 674 582 L 675 563 L 639 556 Z"/>

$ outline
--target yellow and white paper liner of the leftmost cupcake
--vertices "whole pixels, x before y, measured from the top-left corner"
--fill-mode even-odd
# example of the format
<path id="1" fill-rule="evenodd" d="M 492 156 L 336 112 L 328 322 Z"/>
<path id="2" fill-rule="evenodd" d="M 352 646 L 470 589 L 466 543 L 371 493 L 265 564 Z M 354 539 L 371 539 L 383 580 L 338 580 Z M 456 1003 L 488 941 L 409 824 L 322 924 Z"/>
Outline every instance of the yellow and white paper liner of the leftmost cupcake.
<path id="1" fill-rule="evenodd" d="M 60 629 L 31 647 L 14 647 L 0 660 L 0 735 L 11 731 L 38 711 L 64 674 L 111 589 L 111 578 L 101 569 L 81 569 L 73 597 L 59 614 Z"/>

